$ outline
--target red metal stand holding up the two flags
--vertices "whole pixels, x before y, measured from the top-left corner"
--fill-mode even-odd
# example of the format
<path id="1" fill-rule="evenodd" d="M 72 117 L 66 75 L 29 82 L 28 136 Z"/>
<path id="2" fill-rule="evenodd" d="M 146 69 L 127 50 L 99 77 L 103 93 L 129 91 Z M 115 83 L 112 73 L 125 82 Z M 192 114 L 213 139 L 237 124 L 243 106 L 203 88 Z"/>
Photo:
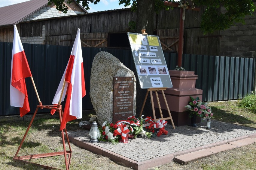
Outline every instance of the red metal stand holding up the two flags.
<path id="1" fill-rule="evenodd" d="M 63 142 L 63 151 L 61 152 L 52 152 L 52 153 L 46 153 L 46 154 L 34 154 L 34 155 L 27 155 L 27 156 L 19 156 L 17 157 L 19 151 L 20 151 L 20 148 L 27 136 L 27 133 L 29 131 L 29 128 L 31 127 L 32 125 L 32 122 L 35 118 L 35 115 L 38 111 L 38 108 L 47 108 L 47 109 L 55 109 L 56 111 L 59 111 L 59 119 L 60 119 L 60 122 L 62 121 L 62 116 L 63 116 L 63 112 L 62 112 L 62 108 L 61 108 L 61 105 L 58 105 L 57 108 L 56 106 L 42 106 L 42 105 L 38 105 L 36 110 L 35 110 L 35 113 L 29 123 L 29 126 L 27 128 L 27 131 L 26 133 L 24 134 L 24 137 L 22 139 L 22 141 L 20 142 L 20 146 L 14 156 L 14 158 L 12 159 L 13 161 L 15 162 L 22 162 L 22 163 L 26 163 L 26 164 L 31 164 L 31 165 L 34 165 L 34 166 L 38 166 L 38 167 L 41 167 L 41 168 L 44 168 L 44 169 L 57 169 L 57 168 L 53 168 L 53 167 L 50 167 L 50 166 L 45 166 L 45 165 L 41 165 L 41 164 L 37 164 L 37 163 L 32 163 L 32 162 L 28 162 L 26 160 L 31 160 L 33 158 L 42 158 L 42 157 L 52 157 L 52 156 L 59 156 L 59 155 L 64 155 L 65 157 L 65 164 L 66 164 L 66 170 L 69 170 L 69 166 L 70 166 L 70 160 L 71 160 L 71 155 L 72 155 L 72 150 L 71 150 L 71 147 L 70 147 L 70 143 L 69 143 L 69 137 L 68 137 L 68 134 L 67 134 L 67 130 L 65 128 L 65 133 L 66 133 L 66 138 L 67 138 L 67 141 L 68 141 L 68 144 L 69 144 L 69 151 L 66 151 L 66 146 L 65 146 L 65 138 L 64 138 L 64 131 L 62 130 L 61 131 L 61 134 L 62 134 L 62 142 Z M 68 156 L 68 158 L 67 158 Z M 61 169 L 59 169 L 61 170 Z"/>

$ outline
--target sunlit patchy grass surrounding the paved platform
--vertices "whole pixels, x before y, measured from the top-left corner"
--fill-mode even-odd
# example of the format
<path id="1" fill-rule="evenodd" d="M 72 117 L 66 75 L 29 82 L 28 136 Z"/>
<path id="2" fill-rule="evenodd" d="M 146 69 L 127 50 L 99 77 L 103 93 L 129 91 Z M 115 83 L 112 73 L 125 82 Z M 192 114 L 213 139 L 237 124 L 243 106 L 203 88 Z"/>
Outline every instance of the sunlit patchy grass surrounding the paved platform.
<path id="1" fill-rule="evenodd" d="M 242 108 L 238 101 L 210 102 L 209 106 L 214 113 L 213 119 L 222 122 L 234 123 L 251 128 L 256 128 L 256 114 L 250 108 Z M 89 120 L 94 116 L 93 111 L 84 111 L 82 120 Z M 24 120 L 18 116 L 0 118 L 0 169 L 13 170 L 41 170 L 41 168 L 13 162 L 12 158 L 22 140 L 22 137 L 29 125 L 31 115 L 26 115 Z M 69 131 L 78 130 L 76 120 L 67 123 Z M 50 114 L 37 115 L 26 137 L 26 140 L 18 154 L 40 154 L 63 151 L 62 140 L 59 137 L 59 118 L 58 115 Z M 85 149 L 71 144 L 72 161 L 70 170 L 129 170 L 118 165 L 101 155 L 96 155 Z M 68 146 L 66 149 L 69 150 Z M 186 169 L 186 170 L 238 170 L 238 169 L 256 169 L 256 144 L 243 146 L 212 155 L 211 157 L 197 160 L 187 165 L 179 165 L 175 162 L 152 168 L 151 170 L 164 169 Z M 59 169 L 65 169 L 63 156 L 40 158 L 31 160 L 34 163 L 41 163 L 47 166 L 53 166 Z"/>

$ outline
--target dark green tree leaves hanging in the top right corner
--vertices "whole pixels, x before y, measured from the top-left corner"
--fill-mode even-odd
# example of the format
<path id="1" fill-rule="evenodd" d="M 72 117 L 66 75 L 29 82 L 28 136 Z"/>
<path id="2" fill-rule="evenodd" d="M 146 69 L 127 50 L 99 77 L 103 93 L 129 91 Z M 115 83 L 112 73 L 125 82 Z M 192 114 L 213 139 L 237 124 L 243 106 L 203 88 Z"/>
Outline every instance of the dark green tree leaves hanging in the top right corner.
<path id="1" fill-rule="evenodd" d="M 225 30 L 235 23 L 244 22 L 246 15 L 253 15 L 255 6 L 252 0 L 195 0 L 197 6 L 206 6 L 201 18 L 203 33 L 212 33 L 215 30 Z M 221 6 L 226 11 L 221 11 Z"/>

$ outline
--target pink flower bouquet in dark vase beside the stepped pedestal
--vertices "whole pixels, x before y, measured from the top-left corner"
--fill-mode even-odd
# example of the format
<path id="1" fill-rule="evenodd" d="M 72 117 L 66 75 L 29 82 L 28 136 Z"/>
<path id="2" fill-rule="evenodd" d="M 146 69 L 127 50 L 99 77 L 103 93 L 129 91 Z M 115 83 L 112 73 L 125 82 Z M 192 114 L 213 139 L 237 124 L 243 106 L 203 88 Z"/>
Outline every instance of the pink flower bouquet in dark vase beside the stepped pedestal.
<path id="1" fill-rule="evenodd" d="M 207 106 L 208 103 L 200 101 L 199 97 L 194 99 L 190 96 L 190 99 L 192 102 L 189 102 L 189 104 L 185 106 L 185 108 L 190 111 L 190 117 L 192 117 L 193 114 L 197 114 L 197 116 L 202 118 L 211 118 L 213 116 L 211 108 Z"/>

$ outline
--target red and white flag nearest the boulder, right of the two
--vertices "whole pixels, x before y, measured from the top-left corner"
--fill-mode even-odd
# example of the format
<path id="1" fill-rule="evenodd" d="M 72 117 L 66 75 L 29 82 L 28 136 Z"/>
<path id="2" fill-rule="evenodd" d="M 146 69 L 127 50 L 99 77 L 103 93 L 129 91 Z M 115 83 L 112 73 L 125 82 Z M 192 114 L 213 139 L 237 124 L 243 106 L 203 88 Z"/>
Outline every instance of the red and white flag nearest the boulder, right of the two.
<path id="1" fill-rule="evenodd" d="M 77 30 L 75 42 L 71 51 L 68 65 L 60 80 L 59 87 L 53 98 L 52 104 L 58 104 L 60 100 L 63 82 L 66 81 L 63 94 L 67 95 L 60 130 L 66 128 L 66 123 L 82 118 L 82 98 L 85 96 L 84 66 L 80 41 L 80 29 Z M 61 101 L 64 101 L 65 95 Z M 52 114 L 54 112 L 51 112 Z"/>

